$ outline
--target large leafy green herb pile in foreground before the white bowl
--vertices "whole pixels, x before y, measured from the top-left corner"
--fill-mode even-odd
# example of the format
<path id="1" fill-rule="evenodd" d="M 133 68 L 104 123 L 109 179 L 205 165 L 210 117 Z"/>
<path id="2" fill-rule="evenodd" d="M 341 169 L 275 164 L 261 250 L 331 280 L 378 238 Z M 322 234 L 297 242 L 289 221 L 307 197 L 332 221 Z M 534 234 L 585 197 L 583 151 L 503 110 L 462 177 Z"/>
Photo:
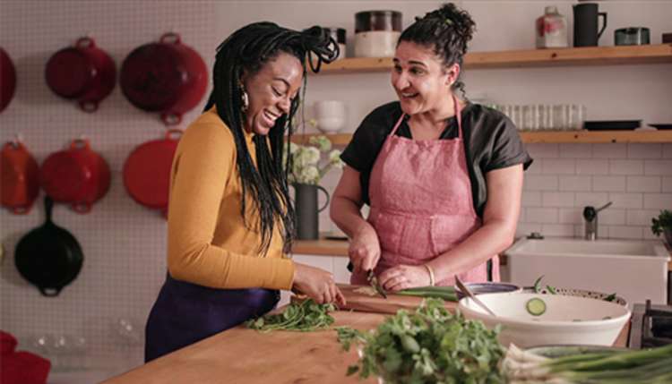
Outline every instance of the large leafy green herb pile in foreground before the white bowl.
<path id="1" fill-rule="evenodd" d="M 361 347 L 362 357 L 348 375 L 377 375 L 388 384 L 505 382 L 498 368 L 504 358 L 499 329 L 452 315 L 441 299 L 426 299 L 414 313 L 397 311 L 369 332 L 336 330 L 343 349 Z"/>

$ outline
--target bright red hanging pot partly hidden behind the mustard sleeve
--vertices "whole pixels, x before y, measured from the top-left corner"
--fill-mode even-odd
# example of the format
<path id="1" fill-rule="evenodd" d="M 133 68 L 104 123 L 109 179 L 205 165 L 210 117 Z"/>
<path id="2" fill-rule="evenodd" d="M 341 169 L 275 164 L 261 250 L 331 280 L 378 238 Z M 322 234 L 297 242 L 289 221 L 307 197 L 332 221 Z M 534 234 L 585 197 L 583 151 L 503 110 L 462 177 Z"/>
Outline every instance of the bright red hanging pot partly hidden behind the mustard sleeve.
<path id="1" fill-rule="evenodd" d="M 124 164 L 126 192 L 151 209 L 168 209 L 170 169 L 182 131 L 168 130 L 161 140 L 147 141 L 134 149 Z"/>

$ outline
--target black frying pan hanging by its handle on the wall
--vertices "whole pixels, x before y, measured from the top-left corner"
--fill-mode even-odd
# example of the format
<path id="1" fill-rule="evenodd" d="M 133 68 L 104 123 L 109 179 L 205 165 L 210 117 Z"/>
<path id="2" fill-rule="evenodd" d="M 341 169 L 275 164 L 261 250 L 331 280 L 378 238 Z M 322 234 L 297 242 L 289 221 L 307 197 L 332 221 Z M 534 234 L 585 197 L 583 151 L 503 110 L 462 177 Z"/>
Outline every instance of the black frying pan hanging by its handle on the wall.
<path id="1" fill-rule="evenodd" d="M 50 197 L 45 197 L 44 205 L 47 221 L 22 237 L 14 262 L 22 277 L 41 294 L 56 296 L 80 273 L 84 255 L 77 239 L 51 221 L 54 202 Z"/>

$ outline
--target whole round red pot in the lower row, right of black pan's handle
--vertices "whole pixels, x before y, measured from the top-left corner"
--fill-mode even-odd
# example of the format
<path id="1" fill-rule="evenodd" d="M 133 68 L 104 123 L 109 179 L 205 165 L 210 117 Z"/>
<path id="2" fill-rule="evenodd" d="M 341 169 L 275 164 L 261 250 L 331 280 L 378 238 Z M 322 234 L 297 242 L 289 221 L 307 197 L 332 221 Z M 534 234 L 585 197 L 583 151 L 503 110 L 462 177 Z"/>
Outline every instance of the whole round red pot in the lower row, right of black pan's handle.
<path id="1" fill-rule="evenodd" d="M 72 204 L 76 212 L 87 213 L 91 204 L 108 192 L 109 166 L 90 149 L 89 141 L 74 140 L 69 149 L 44 160 L 39 169 L 39 183 L 54 201 Z"/>

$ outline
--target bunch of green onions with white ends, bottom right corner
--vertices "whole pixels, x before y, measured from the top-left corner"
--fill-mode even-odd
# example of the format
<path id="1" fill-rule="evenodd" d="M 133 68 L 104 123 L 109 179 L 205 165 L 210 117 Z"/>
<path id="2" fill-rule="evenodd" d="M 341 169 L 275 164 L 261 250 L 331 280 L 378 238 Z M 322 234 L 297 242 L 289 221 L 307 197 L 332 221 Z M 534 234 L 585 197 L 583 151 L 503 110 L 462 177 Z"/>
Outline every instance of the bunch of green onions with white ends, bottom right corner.
<path id="1" fill-rule="evenodd" d="M 506 352 L 503 366 L 511 384 L 672 383 L 672 345 L 548 359 L 521 351 L 512 344 Z"/>

